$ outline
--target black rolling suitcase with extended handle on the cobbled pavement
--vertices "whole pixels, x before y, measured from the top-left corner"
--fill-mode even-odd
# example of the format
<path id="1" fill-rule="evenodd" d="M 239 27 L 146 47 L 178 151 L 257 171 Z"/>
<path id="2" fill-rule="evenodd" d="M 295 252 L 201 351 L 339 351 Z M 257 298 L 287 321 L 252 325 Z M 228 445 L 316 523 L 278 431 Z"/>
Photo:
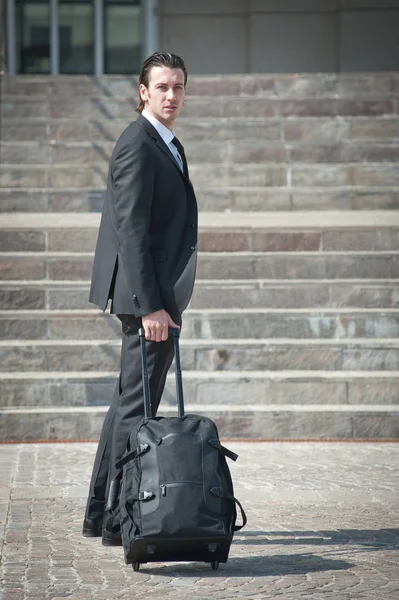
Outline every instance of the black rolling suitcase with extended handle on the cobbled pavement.
<path id="1" fill-rule="evenodd" d="M 217 569 L 227 562 L 235 531 L 246 524 L 234 498 L 226 456 L 216 425 L 199 415 L 184 415 L 179 331 L 174 335 L 177 417 L 151 417 L 144 330 L 142 351 L 145 416 L 129 435 L 119 474 L 111 483 L 108 509 L 120 521 L 126 564 L 205 561 Z M 236 506 L 242 525 L 236 525 Z"/>

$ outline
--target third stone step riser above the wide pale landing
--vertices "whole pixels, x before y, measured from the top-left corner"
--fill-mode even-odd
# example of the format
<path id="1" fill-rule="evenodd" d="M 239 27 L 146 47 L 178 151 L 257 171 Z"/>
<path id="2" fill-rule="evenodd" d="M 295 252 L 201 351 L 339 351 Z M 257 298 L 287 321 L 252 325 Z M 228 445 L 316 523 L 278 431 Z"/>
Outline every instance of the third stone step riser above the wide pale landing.
<path id="1" fill-rule="evenodd" d="M 398 125 L 399 127 L 399 125 Z M 115 142 L 2 142 L 3 164 L 23 165 L 108 165 Z M 258 139 L 188 140 L 184 143 L 190 172 L 197 164 L 240 165 L 251 163 L 392 163 L 399 159 L 399 138 L 389 143 L 362 141 L 335 144 L 303 143 Z"/>

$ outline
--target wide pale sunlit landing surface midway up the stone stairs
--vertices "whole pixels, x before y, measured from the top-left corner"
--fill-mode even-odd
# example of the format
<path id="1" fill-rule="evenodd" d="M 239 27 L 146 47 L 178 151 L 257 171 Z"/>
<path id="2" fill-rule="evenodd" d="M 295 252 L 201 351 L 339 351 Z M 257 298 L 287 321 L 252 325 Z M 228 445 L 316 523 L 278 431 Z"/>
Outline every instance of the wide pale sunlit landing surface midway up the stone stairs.
<path id="1" fill-rule="evenodd" d="M 0 229 L 97 228 L 101 213 L 0 213 Z M 200 211 L 200 229 L 351 229 L 399 227 L 398 210 Z"/>

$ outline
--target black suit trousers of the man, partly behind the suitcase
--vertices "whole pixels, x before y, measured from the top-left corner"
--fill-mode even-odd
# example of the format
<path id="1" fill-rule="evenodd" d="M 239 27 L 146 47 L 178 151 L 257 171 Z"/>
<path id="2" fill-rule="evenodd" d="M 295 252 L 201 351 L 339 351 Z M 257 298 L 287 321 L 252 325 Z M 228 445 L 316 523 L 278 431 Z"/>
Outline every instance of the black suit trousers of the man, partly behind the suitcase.
<path id="1" fill-rule="evenodd" d="M 133 315 L 118 317 L 122 321 L 121 372 L 98 442 L 85 514 L 85 517 L 98 521 L 103 519 L 109 483 L 116 475 L 115 463 L 125 451 L 132 422 L 144 415 L 138 335 L 141 318 Z M 180 324 L 180 319 L 175 322 Z M 173 338 L 169 336 L 166 342 L 148 341 L 146 348 L 152 416 L 155 416 L 174 357 Z"/>

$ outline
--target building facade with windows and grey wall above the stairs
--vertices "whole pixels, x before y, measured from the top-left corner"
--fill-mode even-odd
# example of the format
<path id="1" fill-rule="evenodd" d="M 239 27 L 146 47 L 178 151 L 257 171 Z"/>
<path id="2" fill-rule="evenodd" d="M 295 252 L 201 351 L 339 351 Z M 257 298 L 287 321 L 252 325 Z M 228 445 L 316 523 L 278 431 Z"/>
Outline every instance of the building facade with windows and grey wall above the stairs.
<path id="1" fill-rule="evenodd" d="M 399 0 L 2 0 L 10 74 L 130 74 L 157 49 L 193 74 L 392 71 Z"/>

